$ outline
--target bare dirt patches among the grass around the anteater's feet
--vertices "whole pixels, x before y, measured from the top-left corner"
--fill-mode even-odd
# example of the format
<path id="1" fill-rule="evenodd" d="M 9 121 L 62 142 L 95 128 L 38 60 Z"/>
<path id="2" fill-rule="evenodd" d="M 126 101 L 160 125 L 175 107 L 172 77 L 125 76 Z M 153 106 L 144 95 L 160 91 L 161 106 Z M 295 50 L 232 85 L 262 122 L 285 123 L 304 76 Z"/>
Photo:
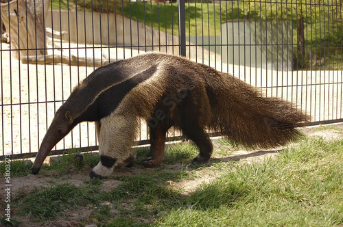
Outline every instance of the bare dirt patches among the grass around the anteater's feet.
<path id="1" fill-rule="evenodd" d="M 315 137 L 315 138 L 323 138 L 325 140 L 335 140 L 335 139 L 343 139 L 343 123 L 336 124 L 338 126 L 338 129 L 323 129 L 318 131 L 317 126 L 312 127 L 306 127 L 303 128 L 303 132 L 305 135 L 309 137 Z M 271 149 L 271 150 L 237 150 L 235 152 L 230 153 L 229 156 L 223 157 L 219 154 L 219 150 L 226 149 L 225 146 L 221 145 L 219 140 L 216 138 L 213 140 L 213 144 L 215 146 L 215 150 L 213 152 L 213 160 L 220 161 L 230 161 L 235 160 L 239 161 L 240 163 L 256 163 L 261 162 L 267 158 L 275 157 L 278 155 L 279 150 L 281 148 Z M 166 165 L 166 164 L 163 164 Z M 168 166 L 168 170 L 170 171 L 180 171 L 187 169 L 187 164 L 184 163 L 176 163 L 173 165 Z M 190 170 L 190 169 L 189 169 Z M 88 174 L 91 171 L 91 168 L 84 168 L 84 172 L 78 172 L 78 173 L 71 173 L 67 174 L 65 176 L 58 176 L 56 172 L 50 171 L 48 174 L 45 174 L 44 176 L 41 174 L 38 175 L 27 175 L 19 178 L 12 178 L 12 196 L 19 195 L 19 193 L 31 193 L 35 189 L 39 189 L 40 187 L 49 187 L 53 186 L 56 183 L 70 183 L 75 186 L 82 186 L 84 185 L 84 181 L 89 178 Z M 141 174 L 143 172 L 151 172 L 151 174 L 154 174 L 154 172 L 157 171 L 154 168 L 143 168 L 141 165 L 136 165 L 134 168 L 116 168 L 113 172 L 113 175 L 117 176 L 134 176 L 137 174 Z M 213 172 L 211 170 L 205 170 L 202 171 L 201 178 L 196 178 L 194 180 L 187 180 L 187 181 L 180 181 L 180 182 L 169 182 L 171 187 L 174 187 L 176 189 L 182 189 L 182 195 L 183 196 L 189 196 L 193 191 L 195 191 L 202 183 L 209 183 L 213 181 L 213 179 L 220 177 L 220 172 Z M 1 179 L 2 180 L 2 179 Z M 110 191 L 111 189 L 118 187 L 121 184 L 121 181 L 116 180 L 107 180 L 104 181 L 101 185 L 101 190 L 104 191 Z M 4 191 L 4 184 L 1 183 L 1 191 Z M 107 205 L 110 205 L 110 202 L 104 202 L 108 203 Z M 122 204 L 123 206 L 130 206 L 130 202 L 126 204 Z M 62 219 L 55 219 L 52 222 L 49 222 L 49 224 L 46 224 L 45 226 L 75 226 L 75 223 L 82 222 L 82 220 L 86 219 L 87 217 L 90 217 L 93 212 L 93 208 L 91 207 L 82 207 L 81 209 L 78 209 L 77 211 L 72 211 L 68 217 L 62 217 Z M 0 213 L 3 213 L 3 211 L 0 211 Z M 111 211 L 113 216 L 116 215 L 119 216 L 119 211 L 116 211 L 113 209 Z M 22 226 L 36 226 L 37 222 L 29 221 L 29 219 L 25 216 L 16 217 L 16 219 L 23 222 Z M 146 220 L 147 223 L 153 222 L 154 220 Z M 39 224 L 38 224 L 39 225 Z"/>

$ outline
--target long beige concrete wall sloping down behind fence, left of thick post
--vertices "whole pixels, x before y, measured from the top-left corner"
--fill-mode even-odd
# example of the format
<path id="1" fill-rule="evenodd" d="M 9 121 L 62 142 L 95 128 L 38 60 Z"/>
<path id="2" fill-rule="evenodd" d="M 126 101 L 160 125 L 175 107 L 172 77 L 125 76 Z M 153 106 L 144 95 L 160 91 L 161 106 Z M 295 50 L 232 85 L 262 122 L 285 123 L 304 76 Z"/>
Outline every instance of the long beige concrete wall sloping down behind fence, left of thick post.
<path id="1" fill-rule="evenodd" d="M 177 51 L 178 37 L 165 34 L 146 26 L 144 23 L 130 20 L 119 14 L 100 14 L 98 12 L 58 11 L 54 10 L 51 23 L 51 11 L 46 19 L 46 27 L 55 31 L 67 31 L 62 40 L 86 44 L 105 44 L 134 46 L 136 48 Z"/>

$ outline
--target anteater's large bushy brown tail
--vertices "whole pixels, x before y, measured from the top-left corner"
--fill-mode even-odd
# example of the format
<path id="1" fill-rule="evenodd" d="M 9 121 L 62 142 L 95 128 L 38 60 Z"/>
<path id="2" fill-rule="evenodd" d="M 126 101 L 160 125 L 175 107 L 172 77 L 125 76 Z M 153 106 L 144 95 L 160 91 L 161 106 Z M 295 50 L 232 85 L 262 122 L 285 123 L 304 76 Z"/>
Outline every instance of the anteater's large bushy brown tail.
<path id="1" fill-rule="evenodd" d="M 290 102 L 265 97 L 257 88 L 231 75 L 210 82 L 212 105 L 211 128 L 220 130 L 228 139 L 252 148 L 282 146 L 301 133 L 294 127 L 308 122 Z M 223 86 L 224 85 L 224 86 Z"/>

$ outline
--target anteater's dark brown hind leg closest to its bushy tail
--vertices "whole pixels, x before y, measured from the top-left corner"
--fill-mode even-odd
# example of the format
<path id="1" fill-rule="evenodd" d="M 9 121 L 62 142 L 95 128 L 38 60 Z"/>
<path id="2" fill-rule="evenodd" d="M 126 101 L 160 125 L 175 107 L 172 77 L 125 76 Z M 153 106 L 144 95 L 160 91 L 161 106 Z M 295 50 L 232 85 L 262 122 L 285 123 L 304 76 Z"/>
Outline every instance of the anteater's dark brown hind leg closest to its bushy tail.
<path id="1" fill-rule="evenodd" d="M 193 161 L 198 163 L 206 163 L 211 158 L 213 152 L 213 145 L 209 135 L 200 128 L 183 127 L 183 133 L 191 139 L 196 146 L 198 146 L 200 153 L 193 159 Z"/>

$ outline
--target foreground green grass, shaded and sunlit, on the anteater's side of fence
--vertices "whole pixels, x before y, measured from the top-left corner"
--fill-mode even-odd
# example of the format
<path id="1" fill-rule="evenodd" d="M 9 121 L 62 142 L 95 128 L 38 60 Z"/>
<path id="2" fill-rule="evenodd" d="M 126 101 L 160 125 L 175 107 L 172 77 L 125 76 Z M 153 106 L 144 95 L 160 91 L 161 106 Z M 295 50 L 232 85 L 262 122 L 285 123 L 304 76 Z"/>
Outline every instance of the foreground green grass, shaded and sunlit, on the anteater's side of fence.
<path id="1" fill-rule="evenodd" d="M 318 130 L 338 126 L 319 126 Z M 221 146 L 235 149 L 224 141 Z M 181 155 L 182 150 L 185 155 Z M 137 156 L 146 157 L 140 148 Z M 197 155 L 188 142 L 166 151 L 167 163 L 147 170 L 137 160 L 136 174 L 113 174 L 107 180 L 86 179 L 84 185 L 55 184 L 19 193 L 13 198 L 14 220 L 21 215 L 47 224 L 67 217 L 70 211 L 91 209 L 79 224 L 98 226 L 342 226 L 343 224 L 343 140 L 332 142 L 303 137 L 279 155 L 253 164 L 239 161 L 209 165 L 185 163 Z M 230 152 L 215 150 L 216 156 Z M 64 157 L 66 160 L 69 157 Z M 85 159 L 86 160 L 86 157 Z M 69 160 L 70 161 L 70 160 Z M 67 162 L 67 161 L 66 161 Z M 57 165 L 57 164 L 56 164 Z M 61 165 L 61 164 L 59 164 Z M 74 165 L 73 161 L 66 165 Z M 84 165 L 86 167 L 86 165 Z M 44 170 L 45 169 L 45 170 Z M 89 169 L 89 168 L 88 168 Z M 49 172 L 49 168 L 42 170 Z M 134 169 L 133 169 L 134 170 Z M 54 171 L 63 172 L 62 168 Z M 75 168 L 73 172 L 84 171 Z M 129 171 L 130 172 L 130 171 Z M 63 172 L 65 174 L 65 172 Z M 192 184 L 211 174 L 191 193 L 177 185 Z M 56 178 L 60 174 L 56 175 Z M 67 175 L 64 175 L 65 177 Z M 105 181 L 120 181 L 109 191 Z M 58 182 L 58 180 L 56 180 Z M 48 220 L 48 221 L 47 221 Z M 3 220 L 1 222 L 4 222 Z M 12 224 L 13 226 L 13 224 Z M 15 226 L 15 224 L 14 224 Z"/>

